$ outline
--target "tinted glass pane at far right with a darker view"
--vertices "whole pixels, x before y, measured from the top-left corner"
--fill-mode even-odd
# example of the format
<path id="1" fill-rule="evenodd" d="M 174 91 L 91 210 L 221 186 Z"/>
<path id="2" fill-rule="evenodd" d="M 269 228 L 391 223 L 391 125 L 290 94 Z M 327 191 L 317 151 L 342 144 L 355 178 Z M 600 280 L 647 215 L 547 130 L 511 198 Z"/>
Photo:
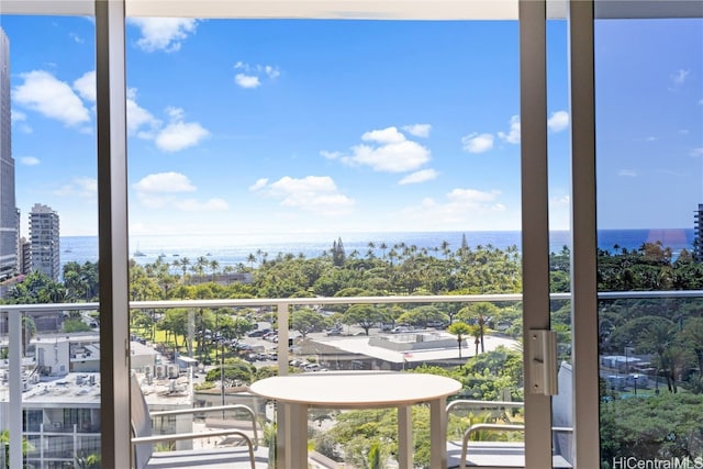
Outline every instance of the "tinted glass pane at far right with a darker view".
<path id="1" fill-rule="evenodd" d="M 595 24 L 603 467 L 703 456 L 702 38 L 701 19 Z"/>

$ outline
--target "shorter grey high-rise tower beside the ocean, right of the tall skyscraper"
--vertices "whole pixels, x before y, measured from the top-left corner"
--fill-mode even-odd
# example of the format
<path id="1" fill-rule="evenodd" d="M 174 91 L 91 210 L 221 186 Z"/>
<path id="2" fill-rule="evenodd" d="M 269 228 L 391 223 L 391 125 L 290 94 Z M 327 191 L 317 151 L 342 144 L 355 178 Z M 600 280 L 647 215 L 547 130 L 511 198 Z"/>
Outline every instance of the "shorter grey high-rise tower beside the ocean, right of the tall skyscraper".
<path id="1" fill-rule="evenodd" d="M 30 212 L 30 243 L 32 270 L 58 280 L 60 273 L 60 244 L 58 213 L 51 206 L 35 203 Z"/>

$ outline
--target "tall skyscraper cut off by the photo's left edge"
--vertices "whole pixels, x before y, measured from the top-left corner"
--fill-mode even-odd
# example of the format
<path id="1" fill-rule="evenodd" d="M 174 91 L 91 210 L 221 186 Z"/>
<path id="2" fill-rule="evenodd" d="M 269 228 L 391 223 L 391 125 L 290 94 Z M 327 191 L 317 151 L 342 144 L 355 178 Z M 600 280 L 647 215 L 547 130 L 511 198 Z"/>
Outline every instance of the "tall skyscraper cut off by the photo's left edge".
<path id="1" fill-rule="evenodd" d="M 10 113 L 10 41 L 0 27 L 0 280 L 16 275 L 20 244 Z"/>

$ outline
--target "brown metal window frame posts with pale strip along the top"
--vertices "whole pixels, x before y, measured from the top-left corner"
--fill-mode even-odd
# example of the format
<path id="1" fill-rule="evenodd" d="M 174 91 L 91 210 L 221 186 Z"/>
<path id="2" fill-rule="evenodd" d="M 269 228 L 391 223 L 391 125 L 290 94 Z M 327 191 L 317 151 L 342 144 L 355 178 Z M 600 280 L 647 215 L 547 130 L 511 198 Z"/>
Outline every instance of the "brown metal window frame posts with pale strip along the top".
<path id="1" fill-rule="evenodd" d="M 539 67 L 521 70 L 521 115 L 523 119 L 523 245 L 525 283 L 525 330 L 548 328 L 548 203 L 546 179 L 546 71 L 543 59 L 547 18 L 569 21 L 569 85 L 572 132 L 572 321 L 574 447 L 577 467 L 598 467 L 598 317 L 595 314 L 595 138 L 593 105 L 593 20 L 595 18 L 701 18 L 698 1 L 487 1 L 457 2 L 359 2 L 359 1 L 178 1 L 149 0 L 3 0 L 2 14 L 88 15 L 96 18 L 97 110 L 98 110 L 98 193 L 102 388 L 102 466 L 131 466 L 129 409 L 129 248 L 126 182 L 126 80 L 125 23 L 127 16 L 178 15 L 210 18 L 368 18 L 370 10 L 386 9 L 387 15 L 405 19 L 520 19 L 521 63 L 529 55 Z M 276 9 L 272 9 L 272 5 Z M 280 10 L 284 4 L 284 10 Z M 333 5 L 331 8 L 330 5 Z M 423 8 L 424 4 L 424 8 Z M 322 9 L 322 5 L 325 9 Z M 346 11 L 346 15 L 342 15 Z M 453 12 L 454 14 L 449 14 Z M 520 16 L 520 18 L 518 18 Z M 529 90 L 529 91 L 527 91 Z M 534 119 L 538 115 L 539 119 Z M 534 126 L 528 124 L 534 122 Z M 532 130 L 532 131 L 531 131 Z M 544 142 L 543 142 L 544 139 Z M 529 188 L 527 191 L 525 188 Z M 529 217 L 526 217 L 528 208 Z M 547 266 L 548 267 L 548 266 Z M 533 277 L 534 276 L 534 277 Z M 527 355 L 527 354 L 526 354 Z M 526 365 L 526 364 L 525 364 Z M 528 367 L 525 366 L 525 373 Z M 527 376 L 526 376 L 527 378 Z M 548 397 L 526 394 L 526 467 L 550 464 L 551 413 Z M 543 429 L 540 432 L 540 429 Z M 549 446 L 549 451 L 545 451 Z M 22 460 L 11 447 L 11 459 Z M 19 446 L 18 446 L 19 447 Z M 20 448 L 21 450 L 21 448 Z"/>

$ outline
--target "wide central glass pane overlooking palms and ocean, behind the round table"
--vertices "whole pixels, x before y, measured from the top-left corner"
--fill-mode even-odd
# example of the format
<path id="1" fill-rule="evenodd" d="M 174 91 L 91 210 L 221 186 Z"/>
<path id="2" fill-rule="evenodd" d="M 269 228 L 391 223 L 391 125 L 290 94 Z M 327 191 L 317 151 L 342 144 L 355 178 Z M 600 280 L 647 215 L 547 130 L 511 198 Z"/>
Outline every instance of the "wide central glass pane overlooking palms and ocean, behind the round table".
<path id="1" fill-rule="evenodd" d="M 150 411 L 246 403 L 270 448 L 275 407 L 243 387 L 417 371 L 479 401 L 453 410 L 455 459 L 472 423 L 523 423 L 520 297 L 413 300 L 522 291 L 516 22 L 133 19 L 126 38 L 131 297 L 171 301 L 131 312 Z M 413 413 L 428 467 L 429 409 Z M 315 454 L 398 458 L 394 409 L 309 417 Z M 480 437 L 524 460 L 521 432 Z"/>

